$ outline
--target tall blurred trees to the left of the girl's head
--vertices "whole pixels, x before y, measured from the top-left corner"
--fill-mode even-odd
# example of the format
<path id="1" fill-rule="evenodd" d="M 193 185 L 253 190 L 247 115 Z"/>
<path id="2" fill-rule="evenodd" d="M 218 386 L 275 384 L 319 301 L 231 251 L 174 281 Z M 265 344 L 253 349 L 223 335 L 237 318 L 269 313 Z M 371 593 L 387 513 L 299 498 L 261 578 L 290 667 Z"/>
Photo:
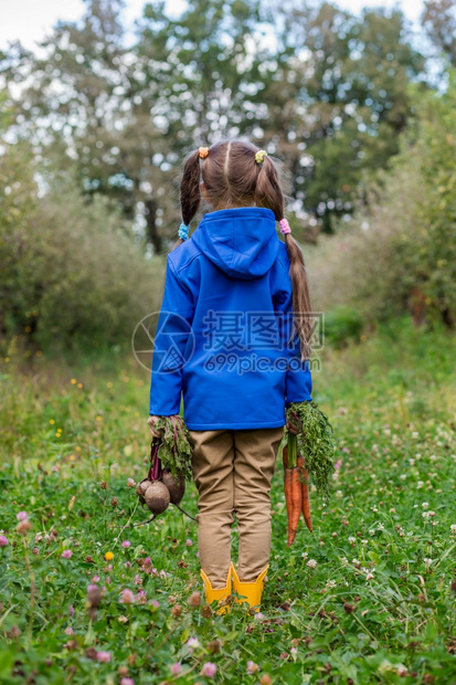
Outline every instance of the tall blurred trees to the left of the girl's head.
<path id="1" fill-rule="evenodd" d="M 170 192 L 183 156 L 230 135 L 243 118 L 250 74 L 253 3 L 192 0 L 178 20 L 165 3 L 146 4 L 136 42 L 126 48 L 123 1 L 87 0 L 81 22 L 57 24 L 44 57 L 10 53 L 6 72 L 30 85 L 18 125 L 43 157 L 49 150 L 77 168 L 91 196 L 107 194 L 129 220 L 146 224 L 160 253 L 176 234 Z"/>

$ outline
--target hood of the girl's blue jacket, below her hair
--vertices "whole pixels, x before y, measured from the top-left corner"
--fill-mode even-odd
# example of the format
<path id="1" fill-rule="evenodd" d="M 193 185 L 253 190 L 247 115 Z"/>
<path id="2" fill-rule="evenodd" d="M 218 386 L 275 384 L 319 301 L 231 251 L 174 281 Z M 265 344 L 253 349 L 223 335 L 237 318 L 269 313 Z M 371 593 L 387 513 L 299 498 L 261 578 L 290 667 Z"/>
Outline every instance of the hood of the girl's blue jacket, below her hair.
<path id="1" fill-rule="evenodd" d="M 274 212 L 263 207 L 210 212 L 192 240 L 227 276 L 243 281 L 258 278 L 271 270 L 280 242 Z"/>

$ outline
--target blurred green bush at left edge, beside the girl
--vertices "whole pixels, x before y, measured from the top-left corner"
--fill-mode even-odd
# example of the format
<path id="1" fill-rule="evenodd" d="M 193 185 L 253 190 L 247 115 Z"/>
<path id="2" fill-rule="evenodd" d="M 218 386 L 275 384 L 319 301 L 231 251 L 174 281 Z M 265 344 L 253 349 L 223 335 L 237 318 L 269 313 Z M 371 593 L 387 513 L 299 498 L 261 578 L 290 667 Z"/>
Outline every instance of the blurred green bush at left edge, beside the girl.
<path id="1" fill-rule="evenodd" d="M 47 175 L 40 197 L 20 144 L 0 157 L 3 342 L 23 335 L 43 350 L 126 342 L 158 308 L 163 265 L 147 260 L 100 197 L 89 203 L 70 175 Z"/>

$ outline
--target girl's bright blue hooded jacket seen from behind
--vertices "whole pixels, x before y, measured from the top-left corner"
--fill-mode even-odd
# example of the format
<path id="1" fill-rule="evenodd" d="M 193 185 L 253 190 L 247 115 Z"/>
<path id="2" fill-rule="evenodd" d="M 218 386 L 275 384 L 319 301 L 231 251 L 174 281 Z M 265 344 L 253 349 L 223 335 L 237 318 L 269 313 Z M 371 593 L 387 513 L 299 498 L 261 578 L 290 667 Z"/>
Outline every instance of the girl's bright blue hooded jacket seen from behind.
<path id="1" fill-rule="evenodd" d="M 205 214 L 168 255 L 149 414 L 178 414 L 182 394 L 190 430 L 278 428 L 286 404 L 310 401 L 310 392 L 274 213 Z"/>

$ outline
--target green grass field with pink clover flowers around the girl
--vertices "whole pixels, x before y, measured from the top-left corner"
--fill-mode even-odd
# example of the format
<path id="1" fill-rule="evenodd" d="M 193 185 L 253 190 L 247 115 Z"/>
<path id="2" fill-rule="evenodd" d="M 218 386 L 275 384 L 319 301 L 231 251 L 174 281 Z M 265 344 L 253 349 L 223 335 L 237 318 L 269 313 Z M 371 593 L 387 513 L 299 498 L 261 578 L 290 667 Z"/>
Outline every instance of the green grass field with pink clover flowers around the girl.
<path id="1" fill-rule="evenodd" d="M 277 461 L 256 615 L 197 605 L 195 524 L 176 508 L 130 525 L 150 444 L 131 355 L 2 359 L 0 683 L 455 684 L 454 350 L 403 322 L 325 351 L 333 494 L 312 494 L 314 533 L 288 549 Z"/>

